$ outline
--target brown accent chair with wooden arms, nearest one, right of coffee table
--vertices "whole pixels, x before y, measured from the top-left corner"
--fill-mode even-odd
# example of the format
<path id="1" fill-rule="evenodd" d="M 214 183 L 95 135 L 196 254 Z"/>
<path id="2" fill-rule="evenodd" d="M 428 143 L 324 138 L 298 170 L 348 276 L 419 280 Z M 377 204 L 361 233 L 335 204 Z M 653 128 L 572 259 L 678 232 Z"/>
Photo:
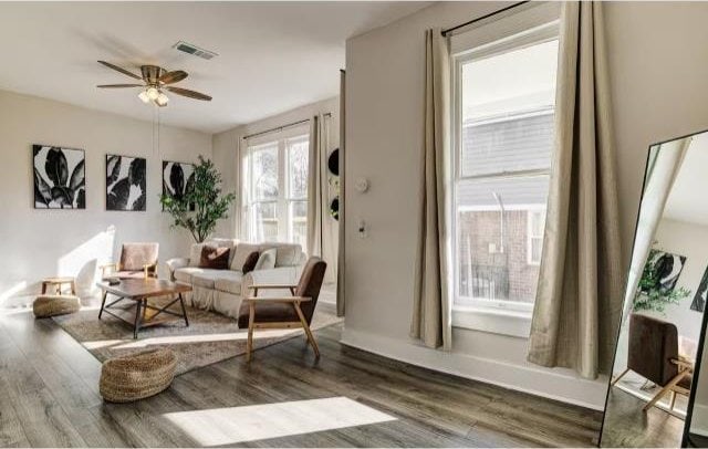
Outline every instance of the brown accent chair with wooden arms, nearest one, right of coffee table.
<path id="1" fill-rule="evenodd" d="M 254 328 L 292 328 L 302 327 L 315 355 L 320 357 L 317 342 L 312 335 L 310 324 L 314 307 L 317 305 L 320 289 L 327 264 L 320 258 L 310 258 L 296 285 L 253 284 L 252 296 L 243 299 L 239 310 L 239 327 L 248 327 L 246 359 L 250 362 L 253 351 Z M 291 296 L 258 296 L 260 290 L 290 290 Z"/>

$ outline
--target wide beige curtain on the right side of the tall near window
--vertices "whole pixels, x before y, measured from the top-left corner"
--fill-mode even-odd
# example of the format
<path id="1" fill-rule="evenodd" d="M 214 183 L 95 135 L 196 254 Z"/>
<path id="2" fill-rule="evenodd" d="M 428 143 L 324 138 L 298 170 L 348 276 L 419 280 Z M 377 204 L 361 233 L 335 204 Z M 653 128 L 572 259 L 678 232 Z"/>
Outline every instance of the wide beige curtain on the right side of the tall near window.
<path id="1" fill-rule="evenodd" d="M 601 2 L 562 3 L 552 165 L 529 362 L 607 373 L 622 310 Z"/>

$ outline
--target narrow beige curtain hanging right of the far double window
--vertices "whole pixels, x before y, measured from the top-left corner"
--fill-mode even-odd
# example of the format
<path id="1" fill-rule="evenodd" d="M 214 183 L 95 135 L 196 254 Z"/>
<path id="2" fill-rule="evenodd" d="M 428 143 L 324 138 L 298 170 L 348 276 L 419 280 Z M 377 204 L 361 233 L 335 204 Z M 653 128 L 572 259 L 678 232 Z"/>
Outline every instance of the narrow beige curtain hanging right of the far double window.
<path id="1" fill-rule="evenodd" d="M 308 173 L 308 255 L 322 257 L 322 117 L 310 121 Z"/>

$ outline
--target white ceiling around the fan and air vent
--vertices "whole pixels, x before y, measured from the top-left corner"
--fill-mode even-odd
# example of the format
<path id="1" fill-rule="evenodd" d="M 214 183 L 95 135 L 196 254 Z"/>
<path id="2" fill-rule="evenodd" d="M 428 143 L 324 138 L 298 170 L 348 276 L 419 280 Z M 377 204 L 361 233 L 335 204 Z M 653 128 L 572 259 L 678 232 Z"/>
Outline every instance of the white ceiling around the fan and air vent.
<path id="1" fill-rule="evenodd" d="M 138 90 L 100 65 L 185 70 L 179 84 L 210 103 L 170 95 L 163 123 L 220 132 L 339 94 L 347 38 L 428 2 L 0 2 L 0 88 L 152 119 Z M 171 46 L 187 41 L 219 56 Z"/>

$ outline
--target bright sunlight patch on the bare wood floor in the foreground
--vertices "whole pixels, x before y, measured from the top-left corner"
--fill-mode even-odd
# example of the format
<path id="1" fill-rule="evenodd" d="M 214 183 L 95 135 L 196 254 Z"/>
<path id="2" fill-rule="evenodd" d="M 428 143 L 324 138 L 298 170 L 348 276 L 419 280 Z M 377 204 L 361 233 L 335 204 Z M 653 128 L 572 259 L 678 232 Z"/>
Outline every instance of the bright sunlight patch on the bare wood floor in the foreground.
<path id="1" fill-rule="evenodd" d="M 204 446 L 233 445 L 396 420 L 346 397 L 178 411 L 164 416 Z"/>

